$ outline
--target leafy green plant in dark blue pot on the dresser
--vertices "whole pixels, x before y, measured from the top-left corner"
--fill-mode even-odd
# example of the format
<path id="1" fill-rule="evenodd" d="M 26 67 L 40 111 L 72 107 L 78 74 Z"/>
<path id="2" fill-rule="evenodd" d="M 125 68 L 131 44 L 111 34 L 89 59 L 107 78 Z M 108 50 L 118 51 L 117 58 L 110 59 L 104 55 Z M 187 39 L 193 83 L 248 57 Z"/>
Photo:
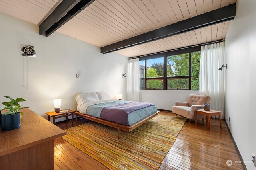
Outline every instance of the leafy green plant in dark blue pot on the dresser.
<path id="1" fill-rule="evenodd" d="M 2 110 L 8 110 L 6 113 L 1 115 L 1 130 L 10 131 L 13 129 L 20 128 L 20 116 L 23 115 L 23 112 L 20 109 L 29 108 L 22 107 L 18 102 L 26 101 L 22 98 L 17 98 L 16 100 L 12 99 L 10 96 L 4 96 L 10 99 L 10 102 L 3 102 L 2 104 L 6 107 Z"/>

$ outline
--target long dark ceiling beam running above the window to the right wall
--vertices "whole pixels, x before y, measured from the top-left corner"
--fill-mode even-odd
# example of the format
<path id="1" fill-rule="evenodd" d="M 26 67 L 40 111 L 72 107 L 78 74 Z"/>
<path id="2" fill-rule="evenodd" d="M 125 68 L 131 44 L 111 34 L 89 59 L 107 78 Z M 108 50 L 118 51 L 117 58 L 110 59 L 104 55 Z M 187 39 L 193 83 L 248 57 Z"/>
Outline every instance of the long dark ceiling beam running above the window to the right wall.
<path id="1" fill-rule="evenodd" d="M 225 21 L 234 20 L 235 16 L 236 3 L 216 10 L 212 10 L 210 12 L 206 12 L 199 16 L 173 23 L 171 25 L 167 25 L 159 29 L 155 29 L 153 31 L 149 31 L 147 33 L 137 35 L 135 37 L 131 37 L 110 45 L 106 45 L 100 48 L 100 52 L 105 54 L 135 45 L 156 41 L 158 39 L 178 35 L 195 29 L 200 29 L 202 27 L 207 27 Z"/>

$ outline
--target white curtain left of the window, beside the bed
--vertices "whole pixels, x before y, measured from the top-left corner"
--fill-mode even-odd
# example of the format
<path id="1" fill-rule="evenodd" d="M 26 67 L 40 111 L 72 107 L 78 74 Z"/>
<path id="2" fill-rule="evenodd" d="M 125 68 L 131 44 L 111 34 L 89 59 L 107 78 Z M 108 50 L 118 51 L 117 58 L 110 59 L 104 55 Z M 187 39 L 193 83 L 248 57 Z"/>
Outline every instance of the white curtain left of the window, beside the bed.
<path id="1" fill-rule="evenodd" d="M 127 100 L 135 102 L 139 102 L 140 96 L 139 66 L 139 58 L 129 60 L 127 74 Z"/>

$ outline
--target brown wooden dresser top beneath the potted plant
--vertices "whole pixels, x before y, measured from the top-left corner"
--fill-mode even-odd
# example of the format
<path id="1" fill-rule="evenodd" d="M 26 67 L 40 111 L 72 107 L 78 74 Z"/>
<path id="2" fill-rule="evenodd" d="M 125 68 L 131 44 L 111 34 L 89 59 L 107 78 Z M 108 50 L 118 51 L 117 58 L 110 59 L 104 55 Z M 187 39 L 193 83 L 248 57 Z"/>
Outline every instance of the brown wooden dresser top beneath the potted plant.
<path id="1" fill-rule="evenodd" d="M 66 135 L 66 132 L 30 109 L 22 109 L 20 128 L 0 131 L 0 156 Z M 2 113 L 5 113 L 4 111 Z"/>

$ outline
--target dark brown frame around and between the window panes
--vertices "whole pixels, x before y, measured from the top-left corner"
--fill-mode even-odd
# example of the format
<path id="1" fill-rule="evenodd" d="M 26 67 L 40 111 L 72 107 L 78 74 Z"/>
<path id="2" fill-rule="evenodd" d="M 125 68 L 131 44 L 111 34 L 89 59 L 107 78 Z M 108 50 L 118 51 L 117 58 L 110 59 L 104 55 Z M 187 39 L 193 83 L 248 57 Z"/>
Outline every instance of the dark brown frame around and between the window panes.
<path id="1" fill-rule="evenodd" d="M 142 90 L 191 90 L 191 53 L 201 51 L 201 46 L 195 46 L 195 47 L 188 47 L 188 48 L 183 48 L 183 49 L 177 49 L 177 50 L 172 50 L 172 51 L 164 51 L 161 53 L 156 53 L 156 54 L 151 54 L 151 55 L 146 55 L 143 57 L 140 57 L 140 61 L 145 61 L 145 75 L 147 75 L 147 60 L 149 59 L 156 59 L 160 57 L 164 57 L 164 76 L 163 77 L 158 77 L 158 78 L 147 78 L 145 76 L 144 80 L 144 89 Z M 169 76 L 167 77 L 167 57 L 171 55 L 179 55 L 179 54 L 184 54 L 184 53 L 189 53 L 189 76 Z M 167 79 L 180 79 L 180 78 L 188 78 L 188 89 L 168 89 L 168 84 L 167 84 Z M 148 89 L 147 88 L 147 80 L 163 80 L 163 89 Z M 197 90 L 196 90 L 197 91 Z"/>

